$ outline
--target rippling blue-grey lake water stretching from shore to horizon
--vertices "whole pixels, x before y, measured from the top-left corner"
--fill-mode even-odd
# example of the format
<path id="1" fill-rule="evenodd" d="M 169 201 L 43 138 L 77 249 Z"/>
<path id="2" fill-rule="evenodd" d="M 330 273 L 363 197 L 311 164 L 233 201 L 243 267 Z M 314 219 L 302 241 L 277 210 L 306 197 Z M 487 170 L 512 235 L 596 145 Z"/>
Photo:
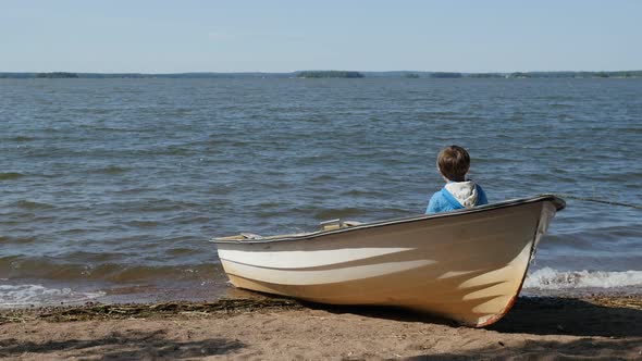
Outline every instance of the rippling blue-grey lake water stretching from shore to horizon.
<path id="1" fill-rule="evenodd" d="M 450 144 L 491 201 L 642 203 L 639 79 L 1 79 L 0 123 L 4 306 L 225 295 L 207 239 L 421 213 Z M 641 244 L 569 200 L 526 288 L 639 289 Z"/>

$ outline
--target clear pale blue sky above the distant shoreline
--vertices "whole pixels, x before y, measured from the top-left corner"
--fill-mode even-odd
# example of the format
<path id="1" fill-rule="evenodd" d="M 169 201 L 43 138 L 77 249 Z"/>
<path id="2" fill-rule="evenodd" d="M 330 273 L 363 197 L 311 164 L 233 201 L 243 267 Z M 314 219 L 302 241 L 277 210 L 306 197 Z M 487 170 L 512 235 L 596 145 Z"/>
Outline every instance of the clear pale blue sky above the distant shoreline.
<path id="1" fill-rule="evenodd" d="M 642 0 L 0 0 L 0 72 L 642 70 Z"/>

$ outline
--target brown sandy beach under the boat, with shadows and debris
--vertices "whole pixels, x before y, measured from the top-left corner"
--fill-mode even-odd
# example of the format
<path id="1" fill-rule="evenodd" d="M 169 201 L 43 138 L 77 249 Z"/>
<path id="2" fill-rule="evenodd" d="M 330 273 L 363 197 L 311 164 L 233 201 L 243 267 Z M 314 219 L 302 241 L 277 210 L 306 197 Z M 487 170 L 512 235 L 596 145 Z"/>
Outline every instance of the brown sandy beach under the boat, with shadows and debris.
<path id="1" fill-rule="evenodd" d="M 259 298 L 0 311 L 0 358 L 642 359 L 642 295 L 520 298 L 486 328 Z"/>

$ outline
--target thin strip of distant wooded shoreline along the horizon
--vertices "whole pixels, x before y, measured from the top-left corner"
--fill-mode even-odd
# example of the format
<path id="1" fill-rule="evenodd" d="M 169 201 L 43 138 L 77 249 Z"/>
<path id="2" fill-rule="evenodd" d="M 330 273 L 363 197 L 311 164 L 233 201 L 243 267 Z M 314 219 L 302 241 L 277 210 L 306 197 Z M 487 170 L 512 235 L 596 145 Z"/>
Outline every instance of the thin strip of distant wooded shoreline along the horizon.
<path id="1" fill-rule="evenodd" d="M 457 73 L 457 72 L 354 72 L 354 71 L 297 71 L 291 73 L 2 73 L 0 78 L 12 79 L 49 79 L 49 78 L 642 78 L 642 71 L 617 72 L 513 72 L 513 73 Z"/>

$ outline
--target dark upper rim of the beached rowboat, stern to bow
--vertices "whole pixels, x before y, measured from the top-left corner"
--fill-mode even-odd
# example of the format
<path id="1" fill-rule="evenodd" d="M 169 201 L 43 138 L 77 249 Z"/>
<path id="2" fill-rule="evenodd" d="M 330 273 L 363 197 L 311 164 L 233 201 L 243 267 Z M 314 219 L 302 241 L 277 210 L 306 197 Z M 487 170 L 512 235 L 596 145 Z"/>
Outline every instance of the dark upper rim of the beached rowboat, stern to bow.
<path id="1" fill-rule="evenodd" d="M 267 239 L 220 239 L 220 238 L 212 238 L 210 239 L 213 244 L 233 244 L 233 245 L 247 245 L 247 244 L 271 244 L 277 241 L 293 241 L 293 240 L 306 240 L 306 239 L 313 239 L 319 238 L 328 235 L 334 235 L 345 232 L 353 232 L 359 229 L 367 229 L 367 228 L 375 228 L 382 227 L 393 224 L 404 224 L 404 223 L 412 223 L 419 221 L 425 221 L 431 219 L 443 219 L 443 217 L 452 217 L 452 216 L 459 216 L 465 214 L 473 214 L 479 212 L 485 212 L 491 210 L 504 209 L 504 208 L 511 208 L 516 206 L 529 204 L 534 202 L 542 202 L 542 201 L 551 201 L 556 208 L 556 211 L 561 211 L 566 208 L 566 201 L 555 195 L 540 195 L 527 198 L 518 198 L 518 199 L 509 199 L 496 203 L 490 203 L 484 206 L 479 206 L 470 209 L 460 209 L 450 212 L 443 212 L 443 213 L 434 213 L 434 214 L 422 214 L 409 217 L 402 217 L 402 219 L 392 219 L 392 220 L 384 220 L 384 221 L 375 221 L 371 223 L 362 223 L 359 225 L 339 228 L 339 229 L 331 229 L 331 231 L 318 231 L 311 232 L 303 235 L 293 235 L 293 236 L 285 236 L 280 238 L 267 238 Z M 275 236 L 279 237 L 279 236 Z"/>

